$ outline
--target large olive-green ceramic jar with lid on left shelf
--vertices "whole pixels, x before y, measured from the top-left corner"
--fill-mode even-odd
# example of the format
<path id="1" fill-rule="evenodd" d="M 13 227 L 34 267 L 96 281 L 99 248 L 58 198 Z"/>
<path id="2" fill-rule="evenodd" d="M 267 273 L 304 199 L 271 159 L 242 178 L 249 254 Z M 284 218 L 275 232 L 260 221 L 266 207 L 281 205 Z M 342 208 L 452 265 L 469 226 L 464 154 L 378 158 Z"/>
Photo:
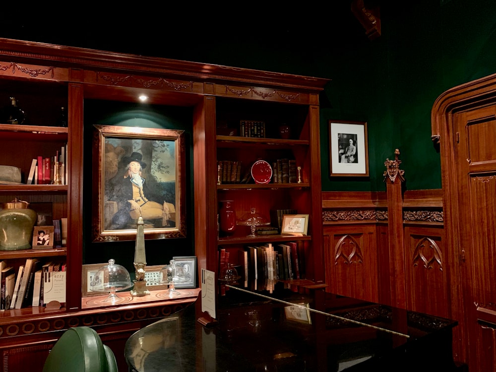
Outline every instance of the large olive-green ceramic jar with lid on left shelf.
<path id="1" fill-rule="evenodd" d="M 31 249 L 38 214 L 17 198 L 0 206 L 0 250 Z"/>

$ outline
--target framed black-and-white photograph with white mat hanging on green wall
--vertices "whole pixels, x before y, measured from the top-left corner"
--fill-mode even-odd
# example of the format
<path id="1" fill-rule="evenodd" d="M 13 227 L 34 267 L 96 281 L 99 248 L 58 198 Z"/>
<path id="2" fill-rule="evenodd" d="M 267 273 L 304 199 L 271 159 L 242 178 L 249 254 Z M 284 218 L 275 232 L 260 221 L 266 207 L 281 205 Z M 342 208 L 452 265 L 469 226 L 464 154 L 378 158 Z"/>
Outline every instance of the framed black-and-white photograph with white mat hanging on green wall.
<path id="1" fill-rule="evenodd" d="M 369 177 L 366 122 L 329 120 L 331 176 Z"/>

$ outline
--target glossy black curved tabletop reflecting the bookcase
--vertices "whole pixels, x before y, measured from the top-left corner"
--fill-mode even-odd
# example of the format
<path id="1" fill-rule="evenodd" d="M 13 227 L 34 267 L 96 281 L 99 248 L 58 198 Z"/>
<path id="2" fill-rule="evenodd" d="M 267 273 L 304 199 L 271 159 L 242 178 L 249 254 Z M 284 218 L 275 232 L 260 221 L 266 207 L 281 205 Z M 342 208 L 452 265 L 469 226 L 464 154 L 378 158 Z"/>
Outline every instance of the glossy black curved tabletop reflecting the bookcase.
<path id="1" fill-rule="evenodd" d="M 200 292 L 137 331 L 125 345 L 129 371 L 458 371 L 457 323 L 445 318 L 323 290 L 260 297 L 230 289 L 216 311 L 214 323 L 197 321 Z"/>

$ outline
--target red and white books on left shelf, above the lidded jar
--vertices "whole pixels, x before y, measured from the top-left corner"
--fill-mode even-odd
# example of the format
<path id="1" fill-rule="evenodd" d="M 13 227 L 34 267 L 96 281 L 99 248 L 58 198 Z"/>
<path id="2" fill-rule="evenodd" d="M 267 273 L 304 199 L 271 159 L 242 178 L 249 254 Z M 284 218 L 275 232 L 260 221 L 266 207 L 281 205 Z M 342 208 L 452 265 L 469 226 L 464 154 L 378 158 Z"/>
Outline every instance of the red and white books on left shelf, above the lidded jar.
<path id="1" fill-rule="evenodd" d="M 67 144 L 54 156 L 37 156 L 31 162 L 26 185 L 67 185 Z"/>

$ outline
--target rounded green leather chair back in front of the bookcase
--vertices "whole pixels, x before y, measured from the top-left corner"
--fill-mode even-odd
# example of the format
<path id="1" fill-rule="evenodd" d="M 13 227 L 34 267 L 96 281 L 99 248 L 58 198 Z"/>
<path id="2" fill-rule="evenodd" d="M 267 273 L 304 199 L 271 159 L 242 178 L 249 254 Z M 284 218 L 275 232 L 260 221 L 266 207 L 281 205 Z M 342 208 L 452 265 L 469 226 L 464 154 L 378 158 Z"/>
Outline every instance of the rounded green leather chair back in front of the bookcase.
<path id="1" fill-rule="evenodd" d="M 55 343 L 43 372 L 118 372 L 116 357 L 90 327 L 67 329 Z"/>

